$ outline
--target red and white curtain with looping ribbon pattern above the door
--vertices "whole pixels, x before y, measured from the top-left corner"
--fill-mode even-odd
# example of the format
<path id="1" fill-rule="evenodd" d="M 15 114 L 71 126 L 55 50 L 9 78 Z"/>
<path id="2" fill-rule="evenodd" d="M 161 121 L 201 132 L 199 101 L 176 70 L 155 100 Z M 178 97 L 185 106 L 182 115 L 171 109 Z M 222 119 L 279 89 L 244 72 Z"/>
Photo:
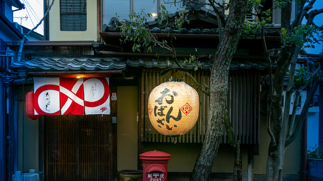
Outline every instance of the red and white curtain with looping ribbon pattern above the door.
<path id="1" fill-rule="evenodd" d="M 34 77 L 35 114 L 110 114 L 109 78 Z"/>

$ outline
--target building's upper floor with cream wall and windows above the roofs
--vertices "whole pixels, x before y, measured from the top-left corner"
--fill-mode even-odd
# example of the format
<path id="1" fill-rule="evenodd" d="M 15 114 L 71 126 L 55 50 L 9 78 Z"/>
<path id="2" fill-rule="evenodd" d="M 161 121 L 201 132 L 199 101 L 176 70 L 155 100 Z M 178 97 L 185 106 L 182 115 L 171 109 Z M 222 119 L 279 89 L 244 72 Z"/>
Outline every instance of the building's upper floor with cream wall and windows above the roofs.
<path id="1" fill-rule="evenodd" d="M 226 0 L 218 1 L 221 4 L 227 3 Z M 47 8 L 50 3 L 51 0 L 46 0 L 44 7 Z M 185 0 L 177 0 L 176 3 L 174 0 L 56 0 L 49 11 L 49 17 L 45 20 L 46 40 L 100 42 L 99 33 L 104 31 L 104 25 L 109 24 L 112 18 L 129 20 L 131 12 L 144 10 L 145 13 L 152 15 L 151 21 L 154 21 L 161 11 L 159 8 L 161 5 L 171 13 L 194 6 L 194 4 L 185 3 Z M 266 0 L 264 8 L 270 8 L 273 5 L 273 0 Z M 294 7 L 296 7 L 295 4 Z M 206 9 L 206 17 L 212 13 L 212 7 L 209 5 L 201 8 Z M 225 12 L 225 14 L 228 13 L 229 11 Z M 292 17 L 293 15 L 295 12 L 292 12 Z M 254 18 L 253 14 L 246 17 L 247 20 Z M 272 19 L 272 23 L 280 23 L 279 10 L 273 10 Z"/>

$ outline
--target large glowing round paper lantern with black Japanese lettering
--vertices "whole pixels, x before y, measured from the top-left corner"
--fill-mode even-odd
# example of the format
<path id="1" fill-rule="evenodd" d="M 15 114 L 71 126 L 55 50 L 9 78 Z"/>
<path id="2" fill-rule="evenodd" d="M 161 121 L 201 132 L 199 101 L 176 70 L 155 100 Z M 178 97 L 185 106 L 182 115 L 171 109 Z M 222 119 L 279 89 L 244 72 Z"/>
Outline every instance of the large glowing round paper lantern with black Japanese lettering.
<path id="1" fill-rule="evenodd" d="M 162 135 L 185 135 L 199 116 L 199 95 L 185 82 L 162 83 L 149 95 L 148 114 Z"/>

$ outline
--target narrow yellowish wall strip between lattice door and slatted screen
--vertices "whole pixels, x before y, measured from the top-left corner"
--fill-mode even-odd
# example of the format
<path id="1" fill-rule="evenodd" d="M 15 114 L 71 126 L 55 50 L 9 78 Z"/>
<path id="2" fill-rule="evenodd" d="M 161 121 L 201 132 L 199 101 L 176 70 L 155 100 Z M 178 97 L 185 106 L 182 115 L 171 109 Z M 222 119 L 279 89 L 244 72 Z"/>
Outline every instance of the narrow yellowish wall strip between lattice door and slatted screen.
<path id="1" fill-rule="evenodd" d="M 117 170 L 137 170 L 138 87 L 117 87 Z"/>

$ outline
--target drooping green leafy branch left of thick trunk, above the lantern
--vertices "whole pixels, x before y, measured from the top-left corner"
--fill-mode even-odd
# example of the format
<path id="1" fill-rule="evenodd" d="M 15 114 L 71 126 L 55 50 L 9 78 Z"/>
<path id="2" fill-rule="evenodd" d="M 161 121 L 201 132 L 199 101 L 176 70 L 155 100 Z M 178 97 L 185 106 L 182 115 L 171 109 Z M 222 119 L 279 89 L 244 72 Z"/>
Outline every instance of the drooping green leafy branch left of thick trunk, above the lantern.
<path id="1" fill-rule="evenodd" d="M 162 21 L 166 21 L 166 25 L 170 26 L 170 31 L 168 32 L 167 36 L 171 38 L 170 43 L 167 40 L 159 40 L 157 36 L 155 36 L 151 30 L 147 26 L 147 22 L 149 18 L 152 16 L 149 13 L 144 13 L 144 9 L 142 9 L 139 13 L 133 12 L 130 16 L 130 19 L 133 19 L 133 22 L 130 21 L 123 21 L 119 24 L 115 24 L 116 26 L 119 25 L 120 28 L 120 35 L 122 39 L 120 39 L 121 43 L 133 42 L 134 45 L 132 46 L 132 51 L 139 51 L 141 52 L 141 48 L 148 47 L 148 51 L 152 51 L 152 48 L 159 46 L 166 50 L 172 52 L 172 58 L 175 61 L 176 65 L 180 68 L 183 66 L 179 63 L 176 55 L 175 47 L 173 46 L 173 39 L 176 37 L 172 34 L 172 29 L 178 29 L 179 32 L 182 30 L 182 25 L 186 22 L 189 23 L 187 20 L 187 13 L 185 11 L 180 11 L 178 16 L 172 17 L 171 14 L 166 11 L 165 7 L 161 5 L 161 12 L 158 16 L 158 23 L 161 24 Z M 172 23 L 168 23 L 168 21 L 172 21 Z M 158 56 L 158 54 L 156 54 Z M 196 60 L 195 55 L 190 56 L 190 60 Z M 196 65 L 198 67 L 199 64 Z M 208 86 L 200 85 L 195 78 L 187 72 L 187 76 L 193 80 L 193 84 L 195 87 L 199 88 L 203 93 L 210 95 L 210 89 Z"/>

